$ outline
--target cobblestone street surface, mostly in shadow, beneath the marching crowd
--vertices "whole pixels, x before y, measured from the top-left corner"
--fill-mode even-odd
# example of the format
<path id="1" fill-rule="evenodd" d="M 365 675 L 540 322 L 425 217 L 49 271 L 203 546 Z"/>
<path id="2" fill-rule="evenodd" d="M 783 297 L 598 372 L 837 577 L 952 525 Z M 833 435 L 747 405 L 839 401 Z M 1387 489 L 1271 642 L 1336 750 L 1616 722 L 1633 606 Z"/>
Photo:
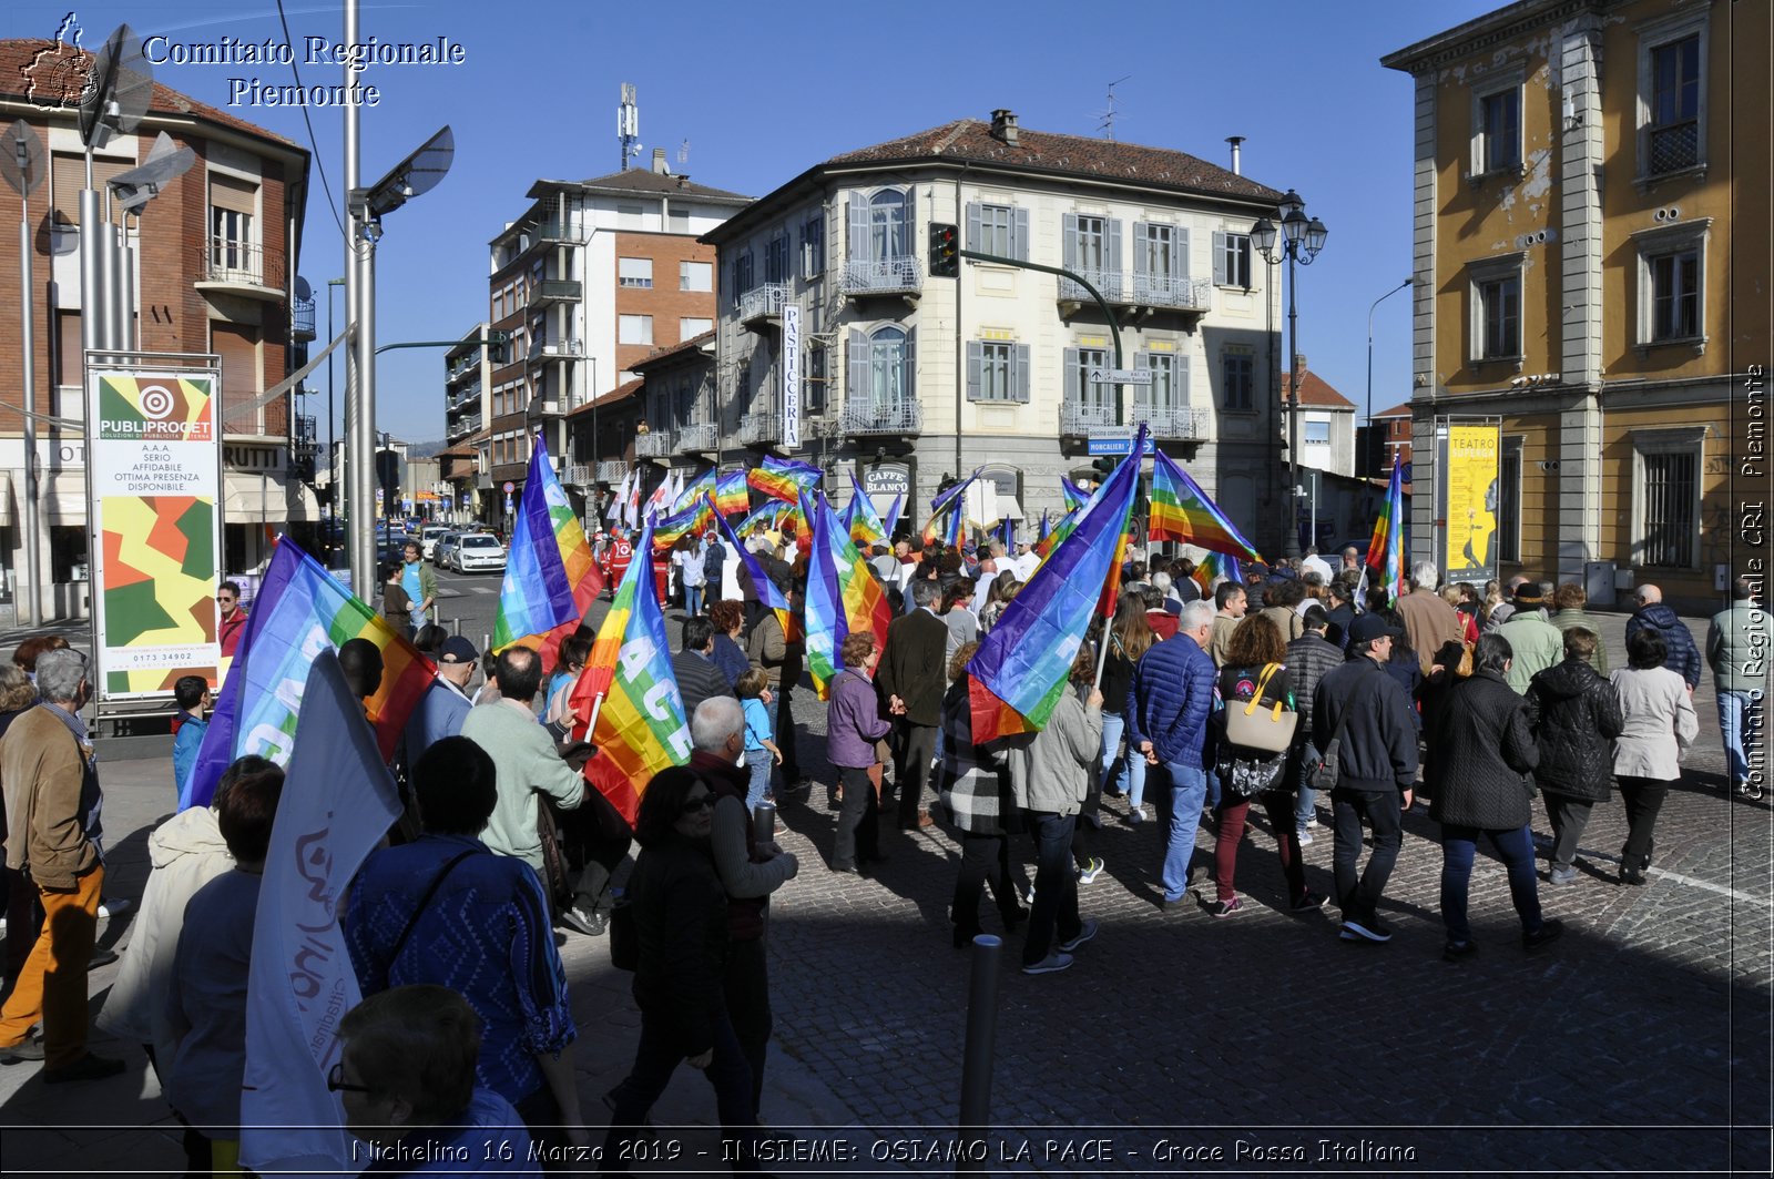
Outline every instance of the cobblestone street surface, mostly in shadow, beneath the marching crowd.
<path id="1" fill-rule="evenodd" d="M 1602 620 L 1613 652 L 1623 652 L 1623 618 Z M 1040 978 L 1017 969 L 1020 938 L 1002 948 L 986 1167 L 1767 1174 L 1774 824 L 1769 803 L 1723 792 L 1710 682 L 1696 708 L 1701 742 L 1659 820 L 1650 884 L 1614 882 L 1623 811 L 1618 799 L 1598 806 L 1579 882 L 1542 882 L 1545 911 L 1566 934 L 1535 957 L 1517 941 L 1501 865 L 1481 858 L 1471 900 L 1481 952 L 1440 961 L 1440 854 L 1423 806 L 1405 820 L 1382 906 L 1396 936 L 1370 946 L 1339 941 L 1330 916 L 1284 911 L 1263 822 L 1240 849 L 1236 916 L 1160 913 L 1160 829 L 1128 826 L 1125 803 L 1105 803 L 1095 851 L 1107 870 L 1080 888 L 1100 936 L 1070 971 Z M 820 785 L 781 811 L 782 843 L 802 872 L 772 909 L 765 1119 L 812 1128 L 797 1131 L 804 1149 L 841 1161 L 775 1170 L 954 1170 L 969 989 L 969 952 L 949 948 L 946 913 L 956 842 L 940 826 L 892 833 L 891 861 L 873 875 L 828 874 L 834 778 L 811 691 L 797 694 L 797 717 L 802 764 Z M 114 788 L 106 808 L 124 895 L 140 895 L 145 831 L 167 810 L 151 785 L 154 765 L 119 765 L 114 781 L 142 785 Z M 1538 803 L 1535 829 L 1549 831 Z M 1316 835 L 1307 881 L 1327 891 L 1330 835 Z M 1210 838 L 1199 833 L 1197 856 Z M 126 939 L 126 920 L 110 925 L 101 943 Z M 639 1021 L 603 939 L 571 936 L 564 955 L 582 1025 L 580 1092 L 600 1122 L 598 1096 L 626 1071 Z M 114 971 L 94 975 L 96 1003 Z M 122 1051 L 131 1071 L 71 1099 L 32 1081 L 32 1065 L 0 1069 L 9 1170 L 179 1165 L 140 1055 L 101 1051 Z M 681 1071 L 656 1117 L 692 1128 L 671 1131 L 687 1154 L 658 1170 L 711 1165 L 694 1154 L 711 1149 L 715 1122 L 699 1078 Z M 92 1129 L 101 1120 L 133 1129 Z"/>

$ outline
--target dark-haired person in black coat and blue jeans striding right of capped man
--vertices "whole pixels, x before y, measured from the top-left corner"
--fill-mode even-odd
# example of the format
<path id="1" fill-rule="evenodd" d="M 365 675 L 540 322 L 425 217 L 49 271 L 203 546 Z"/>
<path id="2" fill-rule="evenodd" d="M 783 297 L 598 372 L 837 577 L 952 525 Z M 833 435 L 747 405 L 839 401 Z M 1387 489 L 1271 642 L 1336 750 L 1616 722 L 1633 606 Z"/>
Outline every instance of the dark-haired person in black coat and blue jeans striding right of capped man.
<path id="1" fill-rule="evenodd" d="M 1527 801 L 1527 774 L 1540 764 L 1540 749 L 1527 728 L 1527 705 L 1504 675 L 1510 641 L 1501 634 L 1480 636 L 1472 648 L 1472 675 L 1453 685 L 1448 707 L 1437 714 L 1437 781 L 1430 783 L 1430 819 L 1442 826 L 1442 925 L 1448 945 L 1442 957 L 1458 962 L 1478 952 L 1467 923 L 1467 886 L 1472 856 L 1483 835 L 1510 872 L 1510 900 L 1522 920 L 1527 950 L 1558 939 L 1559 922 L 1540 914 L 1535 881 L 1535 836 Z"/>

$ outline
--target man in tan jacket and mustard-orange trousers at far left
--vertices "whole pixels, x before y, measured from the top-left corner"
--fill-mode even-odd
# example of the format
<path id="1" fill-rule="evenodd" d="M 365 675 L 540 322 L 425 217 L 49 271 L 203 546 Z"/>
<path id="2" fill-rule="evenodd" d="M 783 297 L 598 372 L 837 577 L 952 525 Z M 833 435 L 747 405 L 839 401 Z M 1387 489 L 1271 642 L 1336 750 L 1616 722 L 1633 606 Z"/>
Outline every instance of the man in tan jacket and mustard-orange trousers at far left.
<path id="1" fill-rule="evenodd" d="M 37 659 L 43 703 L 0 740 L 5 783 L 5 863 L 27 872 L 43 904 L 43 934 L 0 1009 L 0 1060 L 43 1060 L 43 1080 L 89 1081 L 122 1072 L 122 1060 L 87 1051 L 87 962 L 98 934 L 105 863 L 99 847 L 98 767 L 80 708 L 87 657 L 75 650 Z M 43 1041 L 27 1039 L 43 1021 Z"/>

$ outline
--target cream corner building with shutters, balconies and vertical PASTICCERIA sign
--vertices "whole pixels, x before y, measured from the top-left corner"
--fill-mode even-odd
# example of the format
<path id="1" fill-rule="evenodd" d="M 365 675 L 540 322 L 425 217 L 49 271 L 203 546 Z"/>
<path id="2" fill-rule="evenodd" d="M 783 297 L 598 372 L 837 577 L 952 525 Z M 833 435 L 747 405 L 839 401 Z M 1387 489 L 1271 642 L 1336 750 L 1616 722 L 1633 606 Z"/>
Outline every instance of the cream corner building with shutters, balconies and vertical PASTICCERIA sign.
<path id="1" fill-rule="evenodd" d="M 919 526 L 942 478 L 976 467 L 1008 515 L 1057 510 L 1059 476 L 1091 474 L 1093 439 L 1102 453 L 1146 421 L 1274 542 L 1281 286 L 1249 229 L 1279 197 L 1178 151 L 1022 130 L 1008 110 L 834 156 L 706 234 L 715 380 L 653 430 L 687 469 L 795 455 L 828 488 L 853 472 L 882 508 L 908 492 Z M 1009 261 L 931 277 L 931 224 Z M 1112 321 L 1080 284 L 1013 263 L 1079 273 Z M 1118 362 L 1150 384 L 1098 380 Z"/>

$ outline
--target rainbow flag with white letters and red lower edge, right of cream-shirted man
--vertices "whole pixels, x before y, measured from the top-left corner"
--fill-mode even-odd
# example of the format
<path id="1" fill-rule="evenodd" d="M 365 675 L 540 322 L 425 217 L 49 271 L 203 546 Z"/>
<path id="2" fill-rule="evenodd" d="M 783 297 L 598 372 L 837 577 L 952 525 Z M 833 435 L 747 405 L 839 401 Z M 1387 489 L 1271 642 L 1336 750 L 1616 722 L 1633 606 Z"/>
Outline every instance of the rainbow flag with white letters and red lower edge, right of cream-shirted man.
<path id="1" fill-rule="evenodd" d="M 635 552 L 648 552 L 651 540 L 648 520 Z M 632 561 L 623 574 L 571 703 L 582 717 L 596 712 L 589 737 L 598 753 L 585 762 L 585 781 L 633 826 L 653 774 L 690 758 L 690 723 L 671 669 L 651 561 Z"/>

